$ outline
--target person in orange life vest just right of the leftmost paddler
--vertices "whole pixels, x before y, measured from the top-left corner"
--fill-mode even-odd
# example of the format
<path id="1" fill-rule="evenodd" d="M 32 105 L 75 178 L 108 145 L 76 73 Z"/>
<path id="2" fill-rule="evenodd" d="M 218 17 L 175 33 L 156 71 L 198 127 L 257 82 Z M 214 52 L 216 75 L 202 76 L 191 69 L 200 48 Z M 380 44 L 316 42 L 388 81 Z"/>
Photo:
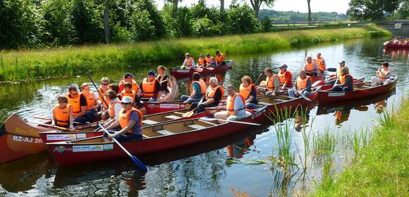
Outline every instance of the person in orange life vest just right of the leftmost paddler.
<path id="1" fill-rule="evenodd" d="M 73 118 L 74 122 L 87 122 L 87 98 L 83 94 L 78 93 L 76 84 L 71 84 L 68 87 L 68 93 L 66 93 L 68 104 L 73 106 Z"/>

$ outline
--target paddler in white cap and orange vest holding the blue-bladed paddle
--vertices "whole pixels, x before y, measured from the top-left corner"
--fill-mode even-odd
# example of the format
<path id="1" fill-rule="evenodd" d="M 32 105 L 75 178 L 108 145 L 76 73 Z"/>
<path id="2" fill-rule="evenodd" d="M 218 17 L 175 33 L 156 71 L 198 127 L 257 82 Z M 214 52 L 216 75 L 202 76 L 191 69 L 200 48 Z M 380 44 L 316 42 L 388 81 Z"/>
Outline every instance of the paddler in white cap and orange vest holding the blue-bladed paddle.
<path id="1" fill-rule="evenodd" d="M 109 139 L 115 138 L 117 141 L 133 141 L 142 139 L 142 113 L 132 107 L 133 99 L 129 96 L 123 96 L 122 106 L 119 111 L 118 120 L 113 122 L 106 129 L 119 129 L 119 131 L 110 131 L 104 133 Z"/>

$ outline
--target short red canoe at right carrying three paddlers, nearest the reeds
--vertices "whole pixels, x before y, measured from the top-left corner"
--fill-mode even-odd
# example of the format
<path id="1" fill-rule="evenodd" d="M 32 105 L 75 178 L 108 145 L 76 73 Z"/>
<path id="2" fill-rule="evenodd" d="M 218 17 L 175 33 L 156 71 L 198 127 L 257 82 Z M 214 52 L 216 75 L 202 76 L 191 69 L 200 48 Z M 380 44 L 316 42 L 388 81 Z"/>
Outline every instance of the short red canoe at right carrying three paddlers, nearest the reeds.
<path id="1" fill-rule="evenodd" d="M 395 78 L 391 83 L 386 85 L 377 85 L 376 87 L 371 87 L 370 82 L 362 82 L 359 84 L 354 84 L 353 91 L 331 91 L 331 90 L 321 90 L 318 91 L 318 101 L 319 103 L 332 103 L 338 101 L 349 101 L 354 99 L 365 98 L 369 96 L 375 96 L 378 94 L 384 94 L 391 91 L 396 87 L 396 82 L 398 78 Z"/>

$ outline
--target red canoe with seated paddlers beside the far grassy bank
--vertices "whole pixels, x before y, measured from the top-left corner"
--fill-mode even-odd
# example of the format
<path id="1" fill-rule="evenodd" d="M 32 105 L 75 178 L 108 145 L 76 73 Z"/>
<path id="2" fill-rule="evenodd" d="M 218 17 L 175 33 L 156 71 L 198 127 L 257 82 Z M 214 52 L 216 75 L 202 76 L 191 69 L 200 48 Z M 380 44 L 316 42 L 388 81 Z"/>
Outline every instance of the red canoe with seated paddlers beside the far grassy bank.
<path id="1" fill-rule="evenodd" d="M 224 73 L 228 69 L 231 69 L 233 65 L 232 60 L 226 61 L 226 65 L 218 66 L 215 68 L 195 68 L 195 70 L 190 69 L 180 69 L 180 68 L 169 68 L 169 72 L 176 79 L 182 78 L 192 78 L 193 72 L 199 72 L 200 75 L 212 75 L 215 73 Z"/>

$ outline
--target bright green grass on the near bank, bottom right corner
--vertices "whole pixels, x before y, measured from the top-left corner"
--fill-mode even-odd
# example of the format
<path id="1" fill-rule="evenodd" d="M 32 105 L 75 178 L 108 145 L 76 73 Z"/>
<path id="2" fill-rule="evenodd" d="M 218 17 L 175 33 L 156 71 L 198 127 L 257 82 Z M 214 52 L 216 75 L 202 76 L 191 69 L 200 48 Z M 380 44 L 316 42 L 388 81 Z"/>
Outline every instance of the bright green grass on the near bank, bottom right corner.
<path id="1" fill-rule="evenodd" d="M 353 165 L 322 182 L 312 196 L 409 196 L 409 100 L 399 113 L 380 119 L 381 127 Z"/>

